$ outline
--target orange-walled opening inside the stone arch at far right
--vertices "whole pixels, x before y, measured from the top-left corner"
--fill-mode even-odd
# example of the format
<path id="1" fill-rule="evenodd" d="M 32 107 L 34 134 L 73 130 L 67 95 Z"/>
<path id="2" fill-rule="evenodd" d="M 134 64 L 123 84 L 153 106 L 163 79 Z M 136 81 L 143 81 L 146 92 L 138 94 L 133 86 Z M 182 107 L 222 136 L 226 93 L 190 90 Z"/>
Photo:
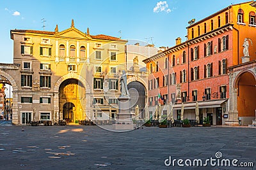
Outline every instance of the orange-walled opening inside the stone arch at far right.
<path id="1" fill-rule="evenodd" d="M 236 76 L 234 81 L 234 100 L 237 102 L 238 119 L 241 125 L 252 124 L 256 110 L 256 76 L 245 70 Z"/>

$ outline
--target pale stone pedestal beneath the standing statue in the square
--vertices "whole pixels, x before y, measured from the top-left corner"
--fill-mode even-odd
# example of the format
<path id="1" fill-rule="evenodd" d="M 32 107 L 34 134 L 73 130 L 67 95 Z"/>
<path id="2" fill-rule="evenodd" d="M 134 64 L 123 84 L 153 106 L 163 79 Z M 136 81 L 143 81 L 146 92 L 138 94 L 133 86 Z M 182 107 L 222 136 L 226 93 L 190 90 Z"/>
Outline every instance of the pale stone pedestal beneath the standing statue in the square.
<path id="1" fill-rule="evenodd" d="M 113 129 L 116 130 L 132 130 L 136 127 L 132 122 L 132 114 L 130 112 L 130 97 L 120 96 L 119 101 L 119 111 L 116 118 L 116 123 L 113 124 Z"/>

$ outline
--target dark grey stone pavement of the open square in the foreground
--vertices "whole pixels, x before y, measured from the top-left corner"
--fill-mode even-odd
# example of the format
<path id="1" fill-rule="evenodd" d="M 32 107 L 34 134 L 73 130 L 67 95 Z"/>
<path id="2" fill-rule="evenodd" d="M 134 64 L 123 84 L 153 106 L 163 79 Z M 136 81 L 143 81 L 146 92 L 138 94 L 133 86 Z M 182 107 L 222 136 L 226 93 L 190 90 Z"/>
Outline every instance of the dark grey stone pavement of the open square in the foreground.
<path id="1" fill-rule="evenodd" d="M 0 169 L 255 169 L 211 164 L 179 167 L 177 161 L 175 166 L 164 165 L 170 156 L 205 161 L 216 159 L 216 152 L 222 153 L 220 159 L 255 165 L 255 145 L 253 128 L 143 127 L 111 132 L 70 125 L 24 126 L 22 131 L 22 126 L 10 125 L 0 126 Z"/>

